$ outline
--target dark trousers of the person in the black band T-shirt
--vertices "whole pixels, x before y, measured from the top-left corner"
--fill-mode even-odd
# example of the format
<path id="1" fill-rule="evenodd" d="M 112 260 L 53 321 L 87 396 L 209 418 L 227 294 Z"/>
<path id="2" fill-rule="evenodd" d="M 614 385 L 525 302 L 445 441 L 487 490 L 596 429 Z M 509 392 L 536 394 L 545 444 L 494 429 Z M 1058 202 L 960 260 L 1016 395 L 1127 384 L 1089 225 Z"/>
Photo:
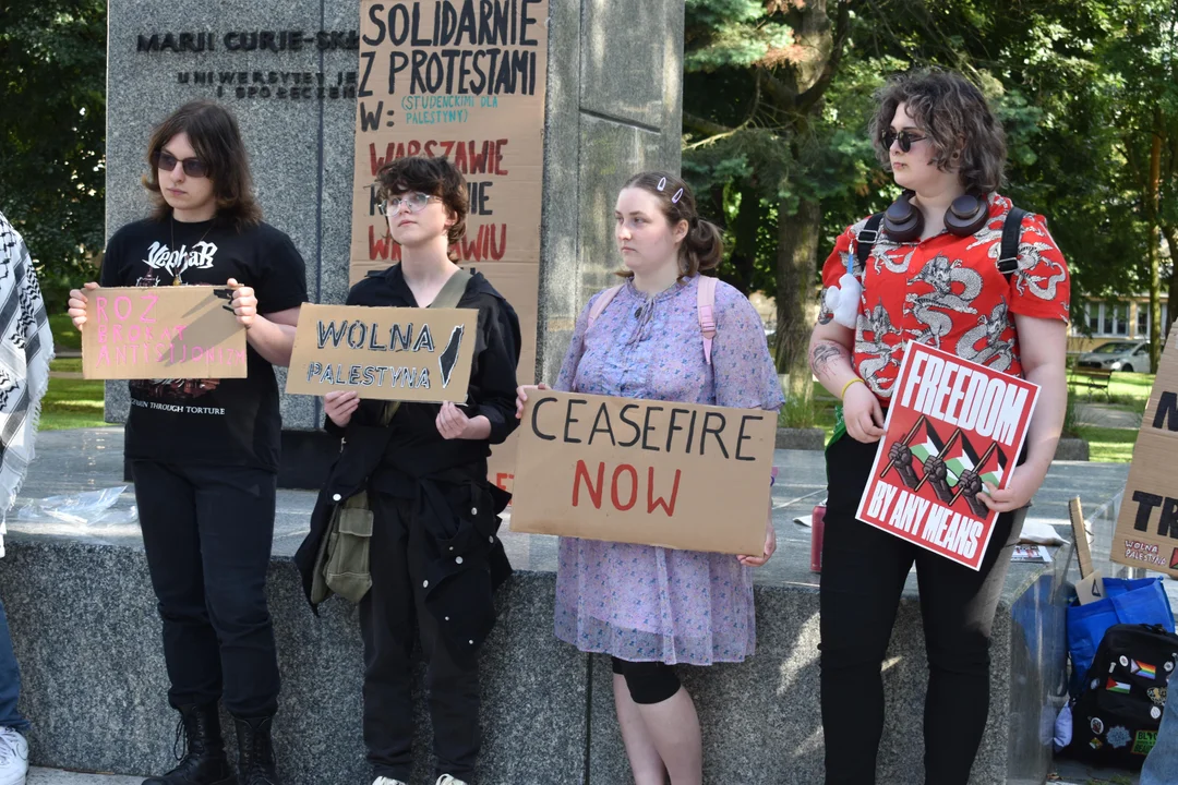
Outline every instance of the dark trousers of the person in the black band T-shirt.
<path id="1" fill-rule="evenodd" d="M 278 709 L 266 607 L 278 475 L 241 466 L 132 460 L 152 586 L 164 620 L 173 706 L 214 703 L 234 717 Z"/>

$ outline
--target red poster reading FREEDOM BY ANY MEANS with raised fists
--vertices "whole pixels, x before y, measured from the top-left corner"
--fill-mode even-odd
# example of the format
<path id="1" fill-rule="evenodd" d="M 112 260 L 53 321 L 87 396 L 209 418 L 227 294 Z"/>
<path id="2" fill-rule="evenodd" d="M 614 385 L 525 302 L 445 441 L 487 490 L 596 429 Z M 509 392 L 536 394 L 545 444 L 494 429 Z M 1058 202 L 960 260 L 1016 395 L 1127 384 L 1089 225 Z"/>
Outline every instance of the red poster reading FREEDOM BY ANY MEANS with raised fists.
<path id="1" fill-rule="evenodd" d="M 1039 386 L 908 344 L 859 520 L 974 570 L 994 530 L 978 493 L 1004 488 Z"/>

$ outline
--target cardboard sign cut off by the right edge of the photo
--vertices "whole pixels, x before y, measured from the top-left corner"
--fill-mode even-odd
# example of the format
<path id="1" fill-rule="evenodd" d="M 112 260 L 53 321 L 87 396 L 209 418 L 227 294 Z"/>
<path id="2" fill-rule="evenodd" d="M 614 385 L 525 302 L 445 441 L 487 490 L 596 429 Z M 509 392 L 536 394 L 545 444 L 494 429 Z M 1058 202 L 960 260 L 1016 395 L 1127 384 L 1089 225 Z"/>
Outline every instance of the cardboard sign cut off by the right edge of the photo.
<path id="1" fill-rule="evenodd" d="M 1112 535 L 1112 560 L 1178 578 L 1178 322 L 1158 364 Z"/>

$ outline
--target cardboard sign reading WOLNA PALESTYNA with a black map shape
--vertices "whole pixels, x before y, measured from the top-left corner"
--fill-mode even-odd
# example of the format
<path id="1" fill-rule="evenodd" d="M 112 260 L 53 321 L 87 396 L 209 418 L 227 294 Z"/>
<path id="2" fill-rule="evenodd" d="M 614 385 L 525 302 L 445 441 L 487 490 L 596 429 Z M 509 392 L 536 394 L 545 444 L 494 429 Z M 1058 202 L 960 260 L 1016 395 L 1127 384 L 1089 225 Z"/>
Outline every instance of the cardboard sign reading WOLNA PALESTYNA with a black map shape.
<path id="1" fill-rule="evenodd" d="M 475 308 L 370 308 L 306 304 L 286 392 L 352 390 L 382 400 L 466 400 Z"/>

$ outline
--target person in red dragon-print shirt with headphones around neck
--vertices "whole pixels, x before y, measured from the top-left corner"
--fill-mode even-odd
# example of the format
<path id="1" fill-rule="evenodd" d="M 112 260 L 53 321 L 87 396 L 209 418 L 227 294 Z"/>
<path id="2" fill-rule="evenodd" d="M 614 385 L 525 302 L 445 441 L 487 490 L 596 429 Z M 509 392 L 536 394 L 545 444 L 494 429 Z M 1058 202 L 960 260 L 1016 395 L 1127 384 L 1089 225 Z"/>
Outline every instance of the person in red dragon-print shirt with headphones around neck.
<path id="1" fill-rule="evenodd" d="M 998 598 L 1063 427 L 1068 273 L 1046 221 L 1032 214 L 1019 224 L 1017 266 L 999 268 L 1013 208 L 997 193 L 1006 142 L 974 85 L 954 73 L 920 71 L 891 79 L 876 98 L 872 139 L 905 192 L 882 219 L 860 221 L 839 237 L 822 271 L 823 306 L 809 347 L 814 374 L 842 400 L 846 423 L 827 447 L 826 783 L 875 781 L 884 730 L 880 666 L 915 563 L 929 670 L 925 781 L 965 785 L 990 710 Z M 855 519 L 909 341 L 1041 387 L 1025 461 L 1006 488 L 987 486 L 978 495 L 1000 513 L 979 571 Z"/>

